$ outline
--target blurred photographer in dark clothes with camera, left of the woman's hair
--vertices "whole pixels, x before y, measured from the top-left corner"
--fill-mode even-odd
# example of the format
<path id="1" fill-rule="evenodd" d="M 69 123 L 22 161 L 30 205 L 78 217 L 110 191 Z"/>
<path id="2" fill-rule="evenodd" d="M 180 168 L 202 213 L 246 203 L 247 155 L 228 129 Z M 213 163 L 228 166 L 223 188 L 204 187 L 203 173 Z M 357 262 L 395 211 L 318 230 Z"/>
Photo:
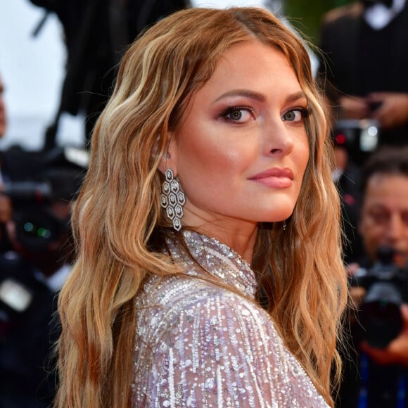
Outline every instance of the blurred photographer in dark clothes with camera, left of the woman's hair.
<path id="1" fill-rule="evenodd" d="M 0 253 L 1 408 L 45 408 L 53 400 L 51 350 L 59 334 L 54 314 L 70 273 L 70 209 L 81 181 L 79 167 L 58 160 L 35 182 L 5 186 L 13 216 L 6 223 L 11 250 Z"/>

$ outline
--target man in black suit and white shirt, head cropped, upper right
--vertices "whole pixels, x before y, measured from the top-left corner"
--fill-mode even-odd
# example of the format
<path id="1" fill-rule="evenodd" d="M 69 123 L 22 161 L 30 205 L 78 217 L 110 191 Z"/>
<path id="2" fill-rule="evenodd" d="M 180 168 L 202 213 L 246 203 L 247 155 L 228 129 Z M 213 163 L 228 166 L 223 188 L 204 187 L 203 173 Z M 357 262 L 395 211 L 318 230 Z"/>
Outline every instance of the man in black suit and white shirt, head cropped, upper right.
<path id="1" fill-rule="evenodd" d="M 334 120 L 377 120 L 379 145 L 408 144 L 408 2 L 361 0 L 324 16 L 319 80 Z"/>

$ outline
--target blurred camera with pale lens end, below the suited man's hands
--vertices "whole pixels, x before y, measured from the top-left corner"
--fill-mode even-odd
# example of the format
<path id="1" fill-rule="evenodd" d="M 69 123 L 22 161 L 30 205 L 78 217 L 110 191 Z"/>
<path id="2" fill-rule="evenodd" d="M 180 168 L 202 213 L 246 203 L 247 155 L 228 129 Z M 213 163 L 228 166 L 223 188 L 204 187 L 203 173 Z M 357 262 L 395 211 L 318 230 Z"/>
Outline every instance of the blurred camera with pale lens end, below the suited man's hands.
<path id="1" fill-rule="evenodd" d="M 336 146 L 343 146 L 355 162 L 359 162 L 376 150 L 379 133 L 376 120 L 345 119 L 334 125 L 332 139 Z"/>

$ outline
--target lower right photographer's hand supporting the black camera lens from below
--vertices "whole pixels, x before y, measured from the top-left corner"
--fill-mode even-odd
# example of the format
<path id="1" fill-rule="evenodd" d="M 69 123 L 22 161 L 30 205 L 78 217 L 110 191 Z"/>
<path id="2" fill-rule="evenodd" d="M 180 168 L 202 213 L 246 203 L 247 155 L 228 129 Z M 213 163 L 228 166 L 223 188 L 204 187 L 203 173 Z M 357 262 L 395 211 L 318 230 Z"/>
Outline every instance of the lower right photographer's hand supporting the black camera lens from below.
<path id="1" fill-rule="evenodd" d="M 401 314 L 404 326 L 400 336 L 386 348 L 373 348 L 366 341 L 360 344 L 361 349 L 378 364 L 402 364 L 408 367 L 408 305 L 401 306 Z"/>

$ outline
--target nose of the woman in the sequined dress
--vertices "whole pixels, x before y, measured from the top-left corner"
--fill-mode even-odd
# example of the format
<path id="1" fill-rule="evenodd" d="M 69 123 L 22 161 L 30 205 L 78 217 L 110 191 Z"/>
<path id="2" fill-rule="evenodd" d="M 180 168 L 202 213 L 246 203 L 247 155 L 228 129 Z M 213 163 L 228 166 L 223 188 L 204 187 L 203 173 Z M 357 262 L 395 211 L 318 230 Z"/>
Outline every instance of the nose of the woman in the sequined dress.
<path id="1" fill-rule="evenodd" d="M 265 155 L 286 155 L 293 148 L 293 134 L 291 129 L 279 117 L 271 120 L 265 129 L 264 154 Z"/>

